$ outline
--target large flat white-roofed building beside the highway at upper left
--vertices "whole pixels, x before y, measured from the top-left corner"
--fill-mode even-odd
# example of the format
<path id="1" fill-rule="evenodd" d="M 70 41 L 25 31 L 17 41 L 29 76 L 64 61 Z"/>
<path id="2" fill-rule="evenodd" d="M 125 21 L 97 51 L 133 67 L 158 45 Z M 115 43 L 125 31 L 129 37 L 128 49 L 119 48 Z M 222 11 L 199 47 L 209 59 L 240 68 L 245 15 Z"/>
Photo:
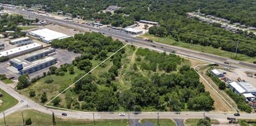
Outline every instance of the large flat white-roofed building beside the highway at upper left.
<path id="1" fill-rule="evenodd" d="M 49 30 L 47 28 L 44 28 L 42 30 L 35 30 L 28 33 L 31 36 L 38 37 L 41 39 L 44 43 L 51 43 L 52 40 L 55 39 L 65 39 L 67 37 L 70 37 L 64 33 L 56 32 Z"/>

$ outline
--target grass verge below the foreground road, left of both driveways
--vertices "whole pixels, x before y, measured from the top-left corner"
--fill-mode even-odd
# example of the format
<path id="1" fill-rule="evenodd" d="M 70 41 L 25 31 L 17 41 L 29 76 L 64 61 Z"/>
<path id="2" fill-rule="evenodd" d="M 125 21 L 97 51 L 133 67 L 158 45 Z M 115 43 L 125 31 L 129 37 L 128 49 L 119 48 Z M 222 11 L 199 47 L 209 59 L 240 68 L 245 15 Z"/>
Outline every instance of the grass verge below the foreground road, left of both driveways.
<path id="1" fill-rule="evenodd" d="M 22 121 L 22 111 L 15 112 L 11 115 L 6 116 L 6 122 L 8 125 L 20 125 Z M 36 110 L 24 110 L 24 119 L 31 118 L 32 125 L 52 125 L 52 115 L 43 114 L 42 112 Z M 61 119 L 55 116 L 56 125 L 69 126 L 69 125 L 94 125 L 92 120 L 88 119 Z M 4 125 L 3 119 L 0 120 L 0 125 Z M 96 120 L 96 125 L 98 126 L 119 126 L 128 125 L 127 119 L 119 120 Z"/>

